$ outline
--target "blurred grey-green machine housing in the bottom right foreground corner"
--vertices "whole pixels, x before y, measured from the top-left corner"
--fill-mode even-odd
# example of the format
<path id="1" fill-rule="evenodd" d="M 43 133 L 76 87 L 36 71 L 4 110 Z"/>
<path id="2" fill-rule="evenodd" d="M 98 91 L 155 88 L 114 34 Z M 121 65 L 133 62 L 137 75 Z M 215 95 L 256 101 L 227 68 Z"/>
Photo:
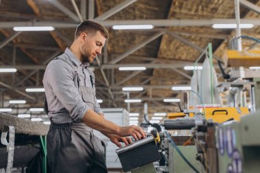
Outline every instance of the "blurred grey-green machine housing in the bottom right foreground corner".
<path id="1" fill-rule="evenodd" d="M 219 172 L 255 173 L 260 168 L 260 112 L 240 122 L 221 124 L 216 131 Z"/>

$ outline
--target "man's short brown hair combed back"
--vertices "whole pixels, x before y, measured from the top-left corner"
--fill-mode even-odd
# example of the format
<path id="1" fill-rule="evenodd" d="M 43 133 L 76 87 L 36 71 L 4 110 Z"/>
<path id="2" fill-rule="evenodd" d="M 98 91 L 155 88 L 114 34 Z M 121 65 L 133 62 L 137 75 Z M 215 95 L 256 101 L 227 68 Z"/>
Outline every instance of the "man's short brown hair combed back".
<path id="1" fill-rule="evenodd" d="M 96 21 L 86 20 L 77 26 L 75 31 L 75 39 L 78 38 L 83 32 L 91 33 L 94 31 L 100 31 L 105 38 L 108 38 L 109 36 L 107 29 L 103 25 L 97 23 Z"/>

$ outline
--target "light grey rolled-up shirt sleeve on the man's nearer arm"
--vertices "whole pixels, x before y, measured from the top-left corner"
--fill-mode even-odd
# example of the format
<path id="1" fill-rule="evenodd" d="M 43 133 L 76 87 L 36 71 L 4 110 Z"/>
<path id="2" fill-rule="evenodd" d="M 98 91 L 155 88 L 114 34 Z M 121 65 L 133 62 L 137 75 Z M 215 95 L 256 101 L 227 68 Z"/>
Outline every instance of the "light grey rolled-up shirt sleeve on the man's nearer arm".
<path id="1" fill-rule="evenodd" d="M 74 84 L 75 72 L 73 69 L 60 60 L 54 60 L 47 68 L 47 85 L 57 102 L 68 110 L 73 120 L 82 120 L 88 111 L 88 106 L 82 101 L 78 89 Z"/>

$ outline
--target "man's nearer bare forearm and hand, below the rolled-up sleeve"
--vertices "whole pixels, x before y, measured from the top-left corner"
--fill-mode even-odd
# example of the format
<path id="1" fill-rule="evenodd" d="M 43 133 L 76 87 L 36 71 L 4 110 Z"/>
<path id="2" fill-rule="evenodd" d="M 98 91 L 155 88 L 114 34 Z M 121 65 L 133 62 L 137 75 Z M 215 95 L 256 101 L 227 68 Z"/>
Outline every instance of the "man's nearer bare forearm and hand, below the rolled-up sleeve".
<path id="1" fill-rule="evenodd" d="M 96 114 L 96 112 L 91 109 L 88 109 L 86 114 L 83 116 L 82 122 L 88 125 L 88 127 L 101 131 L 101 133 L 110 133 L 122 137 L 131 135 L 135 140 L 145 137 L 145 133 L 140 127 L 120 127 L 114 122 L 105 120 L 105 118 L 99 116 L 99 114 Z"/>

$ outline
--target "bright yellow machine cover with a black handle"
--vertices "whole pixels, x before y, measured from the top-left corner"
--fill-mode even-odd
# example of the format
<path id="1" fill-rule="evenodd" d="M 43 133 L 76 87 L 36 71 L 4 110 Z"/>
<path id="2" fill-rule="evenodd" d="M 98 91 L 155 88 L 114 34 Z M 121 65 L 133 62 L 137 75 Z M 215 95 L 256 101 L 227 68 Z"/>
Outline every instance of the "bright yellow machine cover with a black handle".
<path id="1" fill-rule="evenodd" d="M 205 107 L 206 119 L 212 119 L 213 122 L 226 122 L 228 120 L 240 120 L 241 116 L 249 114 L 246 107 Z M 190 114 L 190 117 L 194 117 L 194 114 Z"/>

